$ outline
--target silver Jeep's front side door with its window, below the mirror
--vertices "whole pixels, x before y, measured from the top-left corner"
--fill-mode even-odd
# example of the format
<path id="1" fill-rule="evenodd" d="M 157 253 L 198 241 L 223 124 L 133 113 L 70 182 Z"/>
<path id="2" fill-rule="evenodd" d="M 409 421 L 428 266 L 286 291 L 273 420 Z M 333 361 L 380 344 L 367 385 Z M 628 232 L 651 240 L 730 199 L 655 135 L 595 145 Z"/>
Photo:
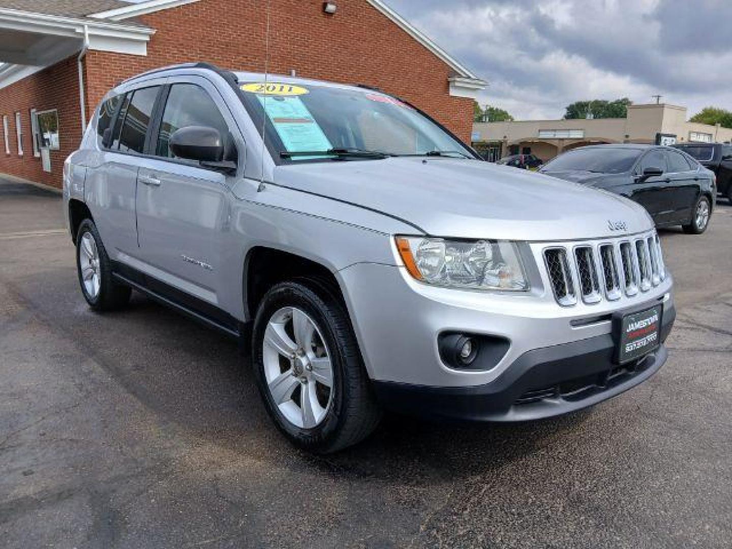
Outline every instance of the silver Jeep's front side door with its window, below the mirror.
<path id="1" fill-rule="evenodd" d="M 168 141 L 182 127 L 214 127 L 225 137 L 236 125 L 206 78 L 171 77 L 163 93 L 150 143 L 152 157 L 139 173 L 141 257 L 149 275 L 220 307 L 222 241 L 231 223 L 228 188 L 235 178 L 174 157 Z"/>

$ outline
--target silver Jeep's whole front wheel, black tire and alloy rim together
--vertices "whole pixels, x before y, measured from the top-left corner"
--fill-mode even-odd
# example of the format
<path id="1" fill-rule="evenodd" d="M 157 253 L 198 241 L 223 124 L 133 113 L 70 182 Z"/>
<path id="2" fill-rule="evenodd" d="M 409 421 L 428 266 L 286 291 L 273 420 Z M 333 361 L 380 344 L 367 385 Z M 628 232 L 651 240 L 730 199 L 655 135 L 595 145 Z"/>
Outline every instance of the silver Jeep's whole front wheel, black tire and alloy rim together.
<path id="1" fill-rule="evenodd" d="M 348 315 L 314 281 L 275 285 L 254 321 L 255 378 L 269 416 L 296 446 L 329 453 L 381 419 Z"/>

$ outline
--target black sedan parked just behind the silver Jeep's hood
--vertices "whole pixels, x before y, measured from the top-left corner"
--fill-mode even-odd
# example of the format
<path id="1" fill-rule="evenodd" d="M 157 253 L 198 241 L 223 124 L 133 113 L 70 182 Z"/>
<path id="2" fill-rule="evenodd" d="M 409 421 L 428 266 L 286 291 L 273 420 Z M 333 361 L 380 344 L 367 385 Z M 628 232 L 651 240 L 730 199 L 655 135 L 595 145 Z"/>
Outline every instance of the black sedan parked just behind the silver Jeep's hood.
<path id="1" fill-rule="evenodd" d="M 706 231 L 717 196 L 714 173 L 666 146 L 586 146 L 539 171 L 626 196 L 644 206 L 658 227 L 681 225 L 688 234 Z"/>

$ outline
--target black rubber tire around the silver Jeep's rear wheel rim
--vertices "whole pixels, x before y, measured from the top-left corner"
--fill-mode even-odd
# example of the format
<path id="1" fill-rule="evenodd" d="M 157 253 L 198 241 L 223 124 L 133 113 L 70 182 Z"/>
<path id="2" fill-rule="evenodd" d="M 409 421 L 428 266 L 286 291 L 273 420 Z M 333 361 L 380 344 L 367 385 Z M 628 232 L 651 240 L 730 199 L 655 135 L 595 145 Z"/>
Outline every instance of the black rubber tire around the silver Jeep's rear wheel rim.
<path id="1" fill-rule="evenodd" d="M 91 235 L 94 239 L 94 243 L 97 245 L 97 256 L 98 256 L 98 269 L 100 276 L 99 292 L 96 296 L 91 295 L 87 291 L 84 285 L 82 268 L 81 268 L 81 249 L 82 239 L 85 234 Z M 89 307 L 96 311 L 111 311 L 118 310 L 127 305 L 130 302 L 130 295 L 132 294 L 132 288 L 126 285 L 116 283 L 112 278 L 112 266 L 107 250 L 105 250 L 102 239 L 97 231 L 97 226 L 90 219 L 85 219 L 79 225 L 78 233 L 76 234 L 76 272 L 79 279 L 79 285 L 81 286 L 81 293 L 89 303 Z"/>

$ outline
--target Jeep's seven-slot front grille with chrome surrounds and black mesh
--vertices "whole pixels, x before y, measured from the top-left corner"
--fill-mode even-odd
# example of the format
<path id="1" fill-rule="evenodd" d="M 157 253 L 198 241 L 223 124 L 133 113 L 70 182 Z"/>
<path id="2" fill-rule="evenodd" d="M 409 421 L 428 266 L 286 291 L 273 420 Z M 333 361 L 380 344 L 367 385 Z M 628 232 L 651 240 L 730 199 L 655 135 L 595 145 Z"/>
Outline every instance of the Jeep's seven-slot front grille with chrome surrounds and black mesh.
<path id="1" fill-rule="evenodd" d="M 633 298 L 666 278 L 657 234 L 610 242 L 559 244 L 543 250 L 554 297 L 570 307 L 579 299 L 592 305 L 602 299 Z"/>

